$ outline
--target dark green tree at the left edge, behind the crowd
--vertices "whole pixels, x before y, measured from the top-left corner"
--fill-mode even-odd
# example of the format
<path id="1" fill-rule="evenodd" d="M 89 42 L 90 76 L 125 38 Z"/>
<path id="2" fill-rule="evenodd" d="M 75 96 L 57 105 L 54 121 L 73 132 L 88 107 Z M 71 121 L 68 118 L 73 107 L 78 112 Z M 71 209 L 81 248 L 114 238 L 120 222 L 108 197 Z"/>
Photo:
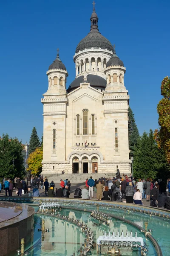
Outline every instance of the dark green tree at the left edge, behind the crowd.
<path id="1" fill-rule="evenodd" d="M 0 177 L 23 177 L 25 169 L 22 151 L 21 141 L 3 134 L 0 140 Z"/>

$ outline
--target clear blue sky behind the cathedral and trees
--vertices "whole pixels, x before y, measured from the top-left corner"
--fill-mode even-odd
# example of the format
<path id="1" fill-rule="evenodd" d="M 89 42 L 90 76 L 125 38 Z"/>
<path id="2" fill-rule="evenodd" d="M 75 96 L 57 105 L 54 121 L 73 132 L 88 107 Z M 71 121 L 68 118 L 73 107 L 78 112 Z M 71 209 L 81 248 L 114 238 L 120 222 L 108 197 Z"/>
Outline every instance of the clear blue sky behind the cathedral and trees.
<path id="1" fill-rule="evenodd" d="M 75 78 L 73 55 L 90 31 L 92 0 L 3 1 L 0 8 L 0 135 L 23 143 L 33 126 L 43 132 L 42 94 L 46 71 L 60 49 Z M 160 85 L 170 76 L 170 1 L 96 0 L 99 32 L 125 64 L 125 87 L 140 134 L 158 127 Z"/>

